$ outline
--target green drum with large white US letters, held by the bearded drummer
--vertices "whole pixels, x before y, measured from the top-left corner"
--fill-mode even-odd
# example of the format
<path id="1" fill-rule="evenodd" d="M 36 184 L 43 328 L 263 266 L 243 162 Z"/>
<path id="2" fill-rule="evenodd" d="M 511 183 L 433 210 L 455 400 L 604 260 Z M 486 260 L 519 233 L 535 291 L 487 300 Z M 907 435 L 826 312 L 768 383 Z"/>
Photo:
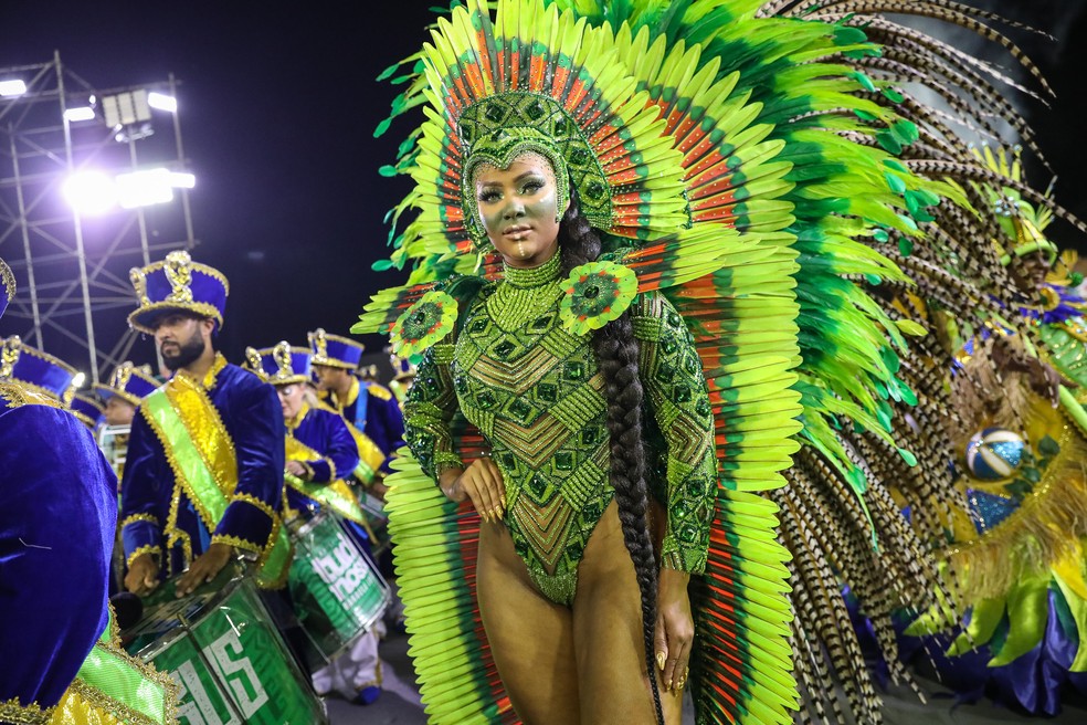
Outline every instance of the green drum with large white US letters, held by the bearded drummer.
<path id="1" fill-rule="evenodd" d="M 173 582 L 122 632 L 129 653 L 180 685 L 189 725 L 327 725 L 324 704 L 295 664 L 251 577 L 228 566 L 183 599 Z"/>

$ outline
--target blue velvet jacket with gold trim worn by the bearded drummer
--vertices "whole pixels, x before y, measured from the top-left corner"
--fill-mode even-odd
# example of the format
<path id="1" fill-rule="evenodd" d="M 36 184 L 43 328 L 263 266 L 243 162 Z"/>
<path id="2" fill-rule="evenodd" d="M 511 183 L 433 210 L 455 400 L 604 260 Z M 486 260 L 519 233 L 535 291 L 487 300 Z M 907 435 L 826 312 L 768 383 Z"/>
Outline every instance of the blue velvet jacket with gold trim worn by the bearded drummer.
<path id="1" fill-rule="evenodd" d="M 204 380 L 208 397 L 219 411 L 234 446 L 238 463 L 235 497 L 209 532 L 173 471 L 162 443 L 144 414 L 136 409 L 128 440 L 128 458 L 120 484 L 122 538 L 130 563 L 149 551 L 159 557 L 159 577 L 180 574 L 192 558 L 218 539 L 252 551 L 268 543 L 273 518 L 283 502 L 283 410 L 275 389 L 236 365 L 217 356 Z M 257 505 L 240 494 L 261 502 Z M 170 507 L 177 498 L 177 530 L 167 530 Z M 169 547 L 167 542 L 176 539 Z M 191 550 L 187 550 L 187 546 Z"/>

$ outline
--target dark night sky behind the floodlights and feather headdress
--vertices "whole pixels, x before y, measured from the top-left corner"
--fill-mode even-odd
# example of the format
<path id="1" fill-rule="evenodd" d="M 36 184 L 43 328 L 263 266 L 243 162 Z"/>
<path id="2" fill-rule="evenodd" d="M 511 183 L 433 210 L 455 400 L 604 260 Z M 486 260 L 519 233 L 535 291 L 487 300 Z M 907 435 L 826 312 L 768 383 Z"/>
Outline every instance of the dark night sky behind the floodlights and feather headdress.
<path id="1" fill-rule="evenodd" d="M 59 50 L 96 87 L 175 74 L 186 156 L 198 178 L 191 200 L 201 245 L 193 255 L 231 280 L 222 346 L 240 361 L 246 345 L 304 344 L 317 326 L 347 334 L 371 292 L 400 282 L 370 264 L 387 254 L 384 212 L 410 188 L 378 168 L 392 161 L 410 124 L 372 137 L 400 90 L 374 78 L 418 50 L 434 4 L 442 2 L 7 0 L 0 69 L 48 62 Z M 1087 218 L 1079 178 L 1087 162 L 1079 133 L 1087 28 L 1077 10 L 1085 3 L 992 4 L 1058 36 L 1037 45 L 1014 34 L 1058 94 L 1052 109 L 1032 118 L 1059 174 L 1057 198 Z M 1055 231 L 1058 241 L 1062 234 Z M 371 351 L 382 344 L 366 342 Z M 150 343 L 138 342 L 134 358 L 149 354 Z"/>

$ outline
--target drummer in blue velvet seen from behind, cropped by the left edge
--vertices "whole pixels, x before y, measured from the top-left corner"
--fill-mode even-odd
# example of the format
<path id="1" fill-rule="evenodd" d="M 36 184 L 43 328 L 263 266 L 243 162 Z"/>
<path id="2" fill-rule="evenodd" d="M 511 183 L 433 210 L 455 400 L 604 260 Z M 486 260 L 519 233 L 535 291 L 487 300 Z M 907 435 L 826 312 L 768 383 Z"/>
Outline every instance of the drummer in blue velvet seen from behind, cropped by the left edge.
<path id="1" fill-rule="evenodd" d="M 0 315 L 13 294 L 0 260 Z M 115 722 L 109 713 L 135 705 L 144 722 L 172 723 L 169 677 L 125 658 L 113 639 L 117 481 L 94 435 L 64 410 L 74 376 L 18 337 L 0 340 L 0 722 Z"/>

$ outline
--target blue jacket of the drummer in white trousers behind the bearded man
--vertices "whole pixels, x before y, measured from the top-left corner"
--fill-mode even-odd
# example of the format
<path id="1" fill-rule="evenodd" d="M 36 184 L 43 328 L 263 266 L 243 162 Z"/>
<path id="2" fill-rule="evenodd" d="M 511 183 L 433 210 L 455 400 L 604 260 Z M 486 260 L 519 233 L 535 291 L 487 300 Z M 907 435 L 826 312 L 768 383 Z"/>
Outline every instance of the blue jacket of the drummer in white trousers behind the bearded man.
<path id="1" fill-rule="evenodd" d="M 304 408 L 297 422 L 287 422 L 287 435 L 313 449 L 321 458 L 308 460 L 314 472 L 310 483 L 331 483 L 345 480 L 359 464 L 359 449 L 355 444 L 347 421 L 325 408 Z M 295 511 L 320 508 L 320 504 L 299 491 L 287 486 L 287 506 Z"/>

